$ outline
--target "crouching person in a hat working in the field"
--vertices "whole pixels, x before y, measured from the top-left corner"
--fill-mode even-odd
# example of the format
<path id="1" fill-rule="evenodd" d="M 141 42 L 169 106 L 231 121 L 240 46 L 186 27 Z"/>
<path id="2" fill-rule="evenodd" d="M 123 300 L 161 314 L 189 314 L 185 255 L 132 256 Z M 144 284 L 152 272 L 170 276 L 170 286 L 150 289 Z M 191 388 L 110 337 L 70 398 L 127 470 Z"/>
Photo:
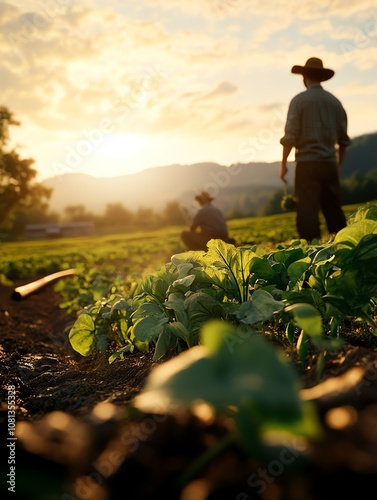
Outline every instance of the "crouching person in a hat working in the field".
<path id="1" fill-rule="evenodd" d="M 189 250 L 207 250 L 207 242 L 212 238 L 235 244 L 234 238 L 229 238 L 225 217 L 211 204 L 213 199 L 205 191 L 195 196 L 201 208 L 196 213 L 190 230 L 181 233 L 182 241 Z M 198 228 L 200 231 L 197 231 Z"/>

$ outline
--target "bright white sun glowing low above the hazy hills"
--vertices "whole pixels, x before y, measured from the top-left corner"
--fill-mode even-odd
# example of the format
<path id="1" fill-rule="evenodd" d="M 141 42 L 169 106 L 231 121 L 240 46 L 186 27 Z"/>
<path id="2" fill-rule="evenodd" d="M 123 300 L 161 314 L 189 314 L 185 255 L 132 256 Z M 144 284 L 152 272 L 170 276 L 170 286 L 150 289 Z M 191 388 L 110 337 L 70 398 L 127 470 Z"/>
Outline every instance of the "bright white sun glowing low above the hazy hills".
<path id="1" fill-rule="evenodd" d="M 112 134 L 104 138 L 99 154 L 112 160 L 122 160 L 141 152 L 146 143 L 147 139 L 142 135 Z"/>

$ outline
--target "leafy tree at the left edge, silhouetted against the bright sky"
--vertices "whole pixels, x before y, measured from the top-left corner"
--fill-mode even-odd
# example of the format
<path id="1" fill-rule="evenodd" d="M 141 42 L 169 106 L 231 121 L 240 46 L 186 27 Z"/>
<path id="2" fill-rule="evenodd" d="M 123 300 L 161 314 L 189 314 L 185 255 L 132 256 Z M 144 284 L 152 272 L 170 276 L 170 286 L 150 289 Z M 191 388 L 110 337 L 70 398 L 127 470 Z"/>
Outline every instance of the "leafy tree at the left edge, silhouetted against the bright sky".
<path id="1" fill-rule="evenodd" d="M 21 159 L 15 148 L 6 149 L 11 125 L 20 123 L 8 108 L 0 106 L 0 223 L 10 219 L 16 207 L 44 206 L 52 192 L 35 182 L 33 159 Z"/>

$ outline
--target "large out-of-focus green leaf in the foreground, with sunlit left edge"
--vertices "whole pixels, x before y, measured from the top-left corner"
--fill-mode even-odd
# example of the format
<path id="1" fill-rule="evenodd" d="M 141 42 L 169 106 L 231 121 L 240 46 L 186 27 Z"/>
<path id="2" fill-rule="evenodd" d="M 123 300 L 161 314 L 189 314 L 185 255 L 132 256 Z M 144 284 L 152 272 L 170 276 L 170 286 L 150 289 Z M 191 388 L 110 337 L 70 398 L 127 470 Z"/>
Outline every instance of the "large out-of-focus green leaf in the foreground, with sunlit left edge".
<path id="1" fill-rule="evenodd" d="M 298 377 L 281 352 L 253 334 L 243 337 L 231 353 L 224 340 L 227 332 L 238 335 L 224 322 L 207 323 L 203 345 L 155 367 L 135 406 L 143 411 L 166 412 L 203 401 L 218 411 L 253 405 L 258 413 L 258 422 L 254 423 L 262 421 L 266 429 L 269 424 L 284 428 L 287 422 L 301 422 Z M 218 357 L 221 364 L 216 362 Z"/>

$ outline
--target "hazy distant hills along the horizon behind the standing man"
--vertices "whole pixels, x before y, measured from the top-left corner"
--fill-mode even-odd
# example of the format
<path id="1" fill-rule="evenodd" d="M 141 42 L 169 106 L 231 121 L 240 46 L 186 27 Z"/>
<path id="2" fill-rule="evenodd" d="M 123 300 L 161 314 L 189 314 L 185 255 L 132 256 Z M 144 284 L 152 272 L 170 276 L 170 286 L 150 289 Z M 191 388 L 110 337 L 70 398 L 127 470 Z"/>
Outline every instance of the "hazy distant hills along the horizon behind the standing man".
<path id="1" fill-rule="evenodd" d="M 283 189 L 279 178 L 280 161 L 272 163 L 217 163 L 169 165 L 143 170 L 119 177 L 97 178 L 91 175 L 63 174 L 43 181 L 53 188 L 50 209 L 61 212 L 67 206 L 84 205 L 89 212 L 101 214 L 106 205 L 121 203 L 125 208 L 163 209 L 177 201 L 192 207 L 193 199 L 202 190 L 216 198 L 215 204 L 225 213 L 241 209 L 246 203 L 255 208 L 265 204 L 276 189 Z M 377 168 L 377 133 L 353 139 L 342 170 L 346 178 L 355 171 L 365 174 Z M 293 189 L 294 163 L 288 173 L 288 190 Z"/>

